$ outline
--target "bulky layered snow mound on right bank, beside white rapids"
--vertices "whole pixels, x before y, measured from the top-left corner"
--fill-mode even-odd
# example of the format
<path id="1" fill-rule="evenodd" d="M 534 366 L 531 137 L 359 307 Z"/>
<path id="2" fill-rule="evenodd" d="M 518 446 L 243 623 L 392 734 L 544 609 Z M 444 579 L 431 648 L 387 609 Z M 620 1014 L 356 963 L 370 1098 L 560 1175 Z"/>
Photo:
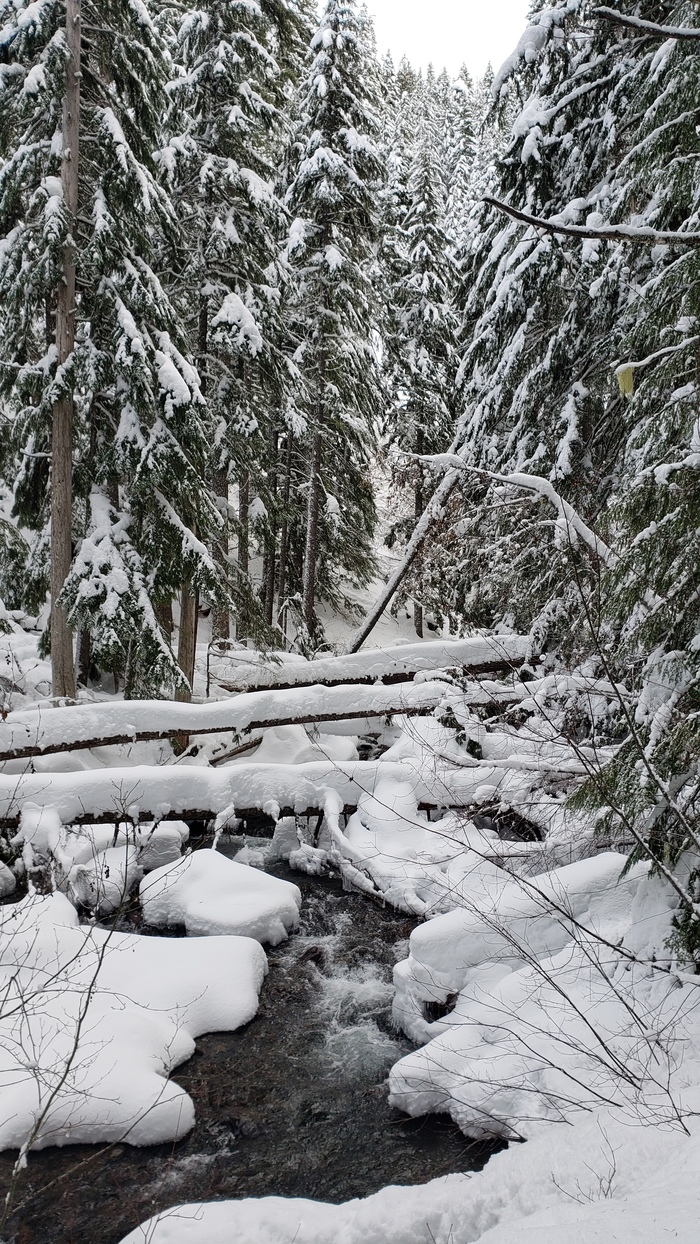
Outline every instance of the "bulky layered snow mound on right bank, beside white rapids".
<path id="1" fill-rule="evenodd" d="M 527 1137 L 601 1101 L 673 1120 L 668 1081 L 688 1036 L 664 970 L 676 901 L 648 865 L 620 880 L 624 863 L 606 852 L 511 878 L 484 862 L 469 908 L 414 931 L 394 1016 L 428 1045 L 393 1067 L 394 1106 L 449 1112 L 476 1138 Z M 431 1019 L 435 1003 L 453 1009 Z"/>

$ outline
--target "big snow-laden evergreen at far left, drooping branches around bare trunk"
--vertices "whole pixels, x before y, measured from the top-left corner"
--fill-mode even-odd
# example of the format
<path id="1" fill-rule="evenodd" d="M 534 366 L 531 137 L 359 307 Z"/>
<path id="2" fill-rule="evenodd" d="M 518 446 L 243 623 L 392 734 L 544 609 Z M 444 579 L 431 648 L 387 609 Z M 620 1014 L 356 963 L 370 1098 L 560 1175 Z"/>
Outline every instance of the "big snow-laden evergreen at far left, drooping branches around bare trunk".
<path id="1" fill-rule="evenodd" d="M 0 383 L 12 415 L 15 514 L 37 534 L 26 576 L 35 593 L 46 561 L 51 427 L 73 407 L 62 444 L 63 460 L 72 450 L 65 521 L 77 554 L 70 571 L 55 559 L 53 611 L 65 607 L 68 623 L 90 634 L 92 659 L 140 694 L 183 683 L 158 608 L 187 577 L 209 597 L 219 592 L 201 541 L 219 515 L 204 484 L 210 432 L 199 379 L 163 279 L 180 246 L 153 158 L 169 57 L 136 0 L 85 0 L 82 16 L 76 117 L 66 91 L 78 47 L 68 53 L 65 6 L 2 4 Z M 77 37 L 80 24 L 72 30 Z M 71 151 L 63 111 L 77 127 Z M 71 165 L 75 184 L 76 157 L 77 205 L 66 172 Z M 72 350 L 61 311 L 71 301 L 70 265 Z M 55 494 L 56 469 L 55 460 Z M 63 481 L 63 506 L 68 488 Z M 57 573 L 66 575 L 60 595 Z M 65 668 L 61 677 L 57 692 L 66 693 Z"/>

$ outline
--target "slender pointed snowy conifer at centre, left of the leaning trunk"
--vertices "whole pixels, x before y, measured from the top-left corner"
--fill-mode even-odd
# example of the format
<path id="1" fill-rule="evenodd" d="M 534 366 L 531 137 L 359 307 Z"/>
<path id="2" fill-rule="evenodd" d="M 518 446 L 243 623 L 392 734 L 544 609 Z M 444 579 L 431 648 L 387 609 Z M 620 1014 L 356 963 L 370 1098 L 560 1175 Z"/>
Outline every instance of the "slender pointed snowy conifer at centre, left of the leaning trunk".
<path id="1" fill-rule="evenodd" d="M 328 0 L 311 55 L 287 207 L 308 454 L 301 622 L 313 646 L 317 597 L 338 600 L 343 572 L 366 582 L 373 567 L 369 463 L 380 387 L 371 277 L 382 168 L 367 90 L 374 73 L 353 4 Z"/>

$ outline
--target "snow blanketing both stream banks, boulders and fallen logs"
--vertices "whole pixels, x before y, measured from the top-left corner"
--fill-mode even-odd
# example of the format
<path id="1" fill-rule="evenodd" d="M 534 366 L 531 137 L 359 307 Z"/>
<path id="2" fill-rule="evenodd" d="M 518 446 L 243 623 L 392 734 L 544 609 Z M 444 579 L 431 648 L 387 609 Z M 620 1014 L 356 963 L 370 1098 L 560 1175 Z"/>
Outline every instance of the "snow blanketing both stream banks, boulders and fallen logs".
<path id="1" fill-rule="evenodd" d="M 624 871 L 627 857 L 598 850 L 591 821 L 566 805 L 593 755 L 609 753 L 573 745 L 557 713 L 584 694 L 604 718 L 610 688 L 583 672 L 465 687 L 423 672 L 407 694 L 424 697 L 428 715 L 374 717 L 373 760 L 357 759 L 352 720 L 337 734 L 262 724 L 240 755 L 231 728 L 178 755 L 168 739 L 85 746 L 104 724 L 128 715 L 138 731 L 139 714 L 145 728 L 172 705 L 99 693 L 85 710 L 50 708 L 36 636 L 15 620 L 0 653 L 2 736 L 75 745 L 0 771 L 12 826 L 0 868 L 1 1146 L 144 1144 L 191 1127 L 193 1103 L 169 1075 L 199 1034 L 255 1014 L 260 943 L 293 935 L 298 916 L 298 889 L 260 871 L 282 856 L 426 917 L 395 970 L 395 1020 L 417 1049 L 394 1065 L 390 1100 L 513 1143 L 477 1174 L 346 1205 L 174 1207 L 128 1244 L 695 1240 L 700 978 L 669 950 L 675 892 L 644 863 Z M 489 688 L 495 717 L 479 714 L 475 688 Z M 331 699 L 352 717 L 387 690 L 347 685 Z M 256 703 L 285 694 L 187 712 L 223 720 L 235 709 L 251 723 Z M 218 832 L 236 809 L 264 810 L 275 838 L 234 862 L 191 852 L 174 817 L 198 807 Z M 281 815 L 312 807 L 321 824 Z M 531 840 L 504 832 L 510 824 L 533 827 Z M 30 896 L 16 899 L 25 878 Z M 96 923 L 137 893 L 148 923 L 190 937 Z"/>

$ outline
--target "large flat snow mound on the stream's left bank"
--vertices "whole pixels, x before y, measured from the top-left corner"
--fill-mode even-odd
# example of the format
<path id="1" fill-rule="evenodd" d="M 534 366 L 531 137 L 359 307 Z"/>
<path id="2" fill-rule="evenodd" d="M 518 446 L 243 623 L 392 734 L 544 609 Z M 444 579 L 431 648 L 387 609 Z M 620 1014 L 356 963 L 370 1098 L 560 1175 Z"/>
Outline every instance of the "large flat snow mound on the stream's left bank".
<path id="1" fill-rule="evenodd" d="M 265 972 L 250 938 L 81 927 L 61 894 L 4 907 L 0 1148 L 185 1135 L 194 1105 L 168 1075 L 200 1034 L 252 1019 Z"/>

